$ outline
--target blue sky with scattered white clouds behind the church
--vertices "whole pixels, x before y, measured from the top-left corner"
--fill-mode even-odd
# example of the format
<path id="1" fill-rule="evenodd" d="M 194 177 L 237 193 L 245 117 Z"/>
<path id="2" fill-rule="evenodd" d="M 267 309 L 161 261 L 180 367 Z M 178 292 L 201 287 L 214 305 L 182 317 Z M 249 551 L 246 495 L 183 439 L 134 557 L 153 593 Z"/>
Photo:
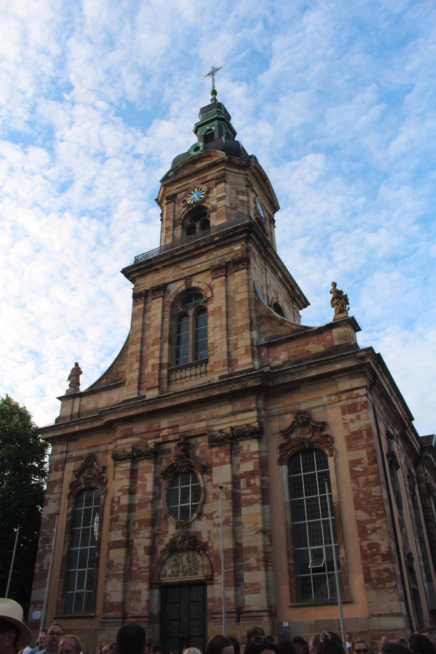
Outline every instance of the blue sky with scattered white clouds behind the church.
<path id="1" fill-rule="evenodd" d="M 335 280 L 420 434 L 435 430 L 436 5 L 14 0 L 0 17 L 0 394 L 38 424 L 127 336 L 119 271 L 159 243 L 159 179 L 216 78 L 277 193 L 278 253 Z"/>

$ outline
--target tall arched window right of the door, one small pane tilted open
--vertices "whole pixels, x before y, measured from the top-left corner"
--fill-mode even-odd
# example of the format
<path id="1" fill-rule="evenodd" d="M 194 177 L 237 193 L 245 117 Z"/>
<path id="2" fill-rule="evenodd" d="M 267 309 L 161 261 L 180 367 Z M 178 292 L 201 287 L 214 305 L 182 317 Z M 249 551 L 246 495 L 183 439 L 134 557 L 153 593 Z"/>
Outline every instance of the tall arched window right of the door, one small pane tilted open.
<path id="1" fill-rule="evenodd" d="M 298 452 L 288 462 L 288 475 L 297 599 L 299 602 L 335 600 L 337 591 L 326 479 L 334 549 L 340 570 L 339 547 L 327 455 L 320 449 Z"/>

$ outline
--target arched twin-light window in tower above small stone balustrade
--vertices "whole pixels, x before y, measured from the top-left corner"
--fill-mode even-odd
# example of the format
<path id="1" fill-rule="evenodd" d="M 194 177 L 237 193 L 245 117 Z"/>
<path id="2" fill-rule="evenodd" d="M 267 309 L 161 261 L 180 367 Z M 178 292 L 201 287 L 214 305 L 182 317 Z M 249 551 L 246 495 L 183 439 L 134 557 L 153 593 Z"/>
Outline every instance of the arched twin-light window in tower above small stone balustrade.
<path id="1" fill-rule="evenodd" d="M 207 308 L 203 301 L 203 294 L 193 291 L 178 303 L 175 366 L 207 359 Z"/>

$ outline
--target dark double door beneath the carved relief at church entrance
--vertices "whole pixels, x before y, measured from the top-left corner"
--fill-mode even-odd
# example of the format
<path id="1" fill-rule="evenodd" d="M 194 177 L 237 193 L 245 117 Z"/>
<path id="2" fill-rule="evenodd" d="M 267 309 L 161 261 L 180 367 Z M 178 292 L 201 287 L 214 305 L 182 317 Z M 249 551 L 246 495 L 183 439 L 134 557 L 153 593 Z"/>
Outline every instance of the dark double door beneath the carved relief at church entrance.
<path id="1" fill-rule="evenodd" d="M 206 645 L 206 584 L 161 586 L 160 642 L 165 654 Z"/>

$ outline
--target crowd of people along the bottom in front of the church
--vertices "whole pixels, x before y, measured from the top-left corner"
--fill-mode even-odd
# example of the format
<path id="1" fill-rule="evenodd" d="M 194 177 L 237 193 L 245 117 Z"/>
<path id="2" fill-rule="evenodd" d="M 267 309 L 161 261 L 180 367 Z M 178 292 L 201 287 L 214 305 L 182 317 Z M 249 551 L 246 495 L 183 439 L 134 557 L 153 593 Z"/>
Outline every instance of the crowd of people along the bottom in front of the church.
<path id="1" fill-rule="evenodd" d="M 261 627 L 250 627 L 243 644 L 243 654 L 375 654 L 371 645 L 360 636 L 346 634 L 341 637 L 333 631 L 313 634 L 309 642 L 303 636 L 280 638 L 265 634 Z M 23 622 L 23 610 L 14 600 L 0 598 L 0 654 L 83 654 L 82 643 L 75 634 L 65 633 L 62 625 L 54 623 L 47 632 L 41 632 L 31 647 L 31 632 Z M 378 648 L 377 648 L 378 649 Z M 381 639 L 378 654 L 436 654 L 436 627 L 424 627 L 414 632 L 406 642 Z M 160 644 L 146 640 L 144 627 L 126 623 L 112 644 L 101 645 L 100 654 L 164 654 Z M 241 644 L 233 636 L 217 634 L 207 642 L 204 653 L 196 647 L 185 647 L 182 653 L 170 654 L 241 654 Z"/>

